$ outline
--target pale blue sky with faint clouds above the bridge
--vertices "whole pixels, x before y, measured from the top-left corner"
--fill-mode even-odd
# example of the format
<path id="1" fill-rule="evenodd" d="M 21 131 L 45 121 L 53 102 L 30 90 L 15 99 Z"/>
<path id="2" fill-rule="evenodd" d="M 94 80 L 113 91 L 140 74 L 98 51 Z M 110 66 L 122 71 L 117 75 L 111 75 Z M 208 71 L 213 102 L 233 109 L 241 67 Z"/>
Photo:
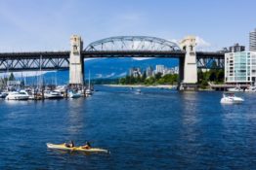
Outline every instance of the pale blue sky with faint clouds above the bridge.
<path id="1" fill-rule="evenodd" d="M 117 35 L 201 38 L 206 50 L 240 43 L 256 28 L 255 0 L 0 0 L 0 51 L 69 50 Z"/>

